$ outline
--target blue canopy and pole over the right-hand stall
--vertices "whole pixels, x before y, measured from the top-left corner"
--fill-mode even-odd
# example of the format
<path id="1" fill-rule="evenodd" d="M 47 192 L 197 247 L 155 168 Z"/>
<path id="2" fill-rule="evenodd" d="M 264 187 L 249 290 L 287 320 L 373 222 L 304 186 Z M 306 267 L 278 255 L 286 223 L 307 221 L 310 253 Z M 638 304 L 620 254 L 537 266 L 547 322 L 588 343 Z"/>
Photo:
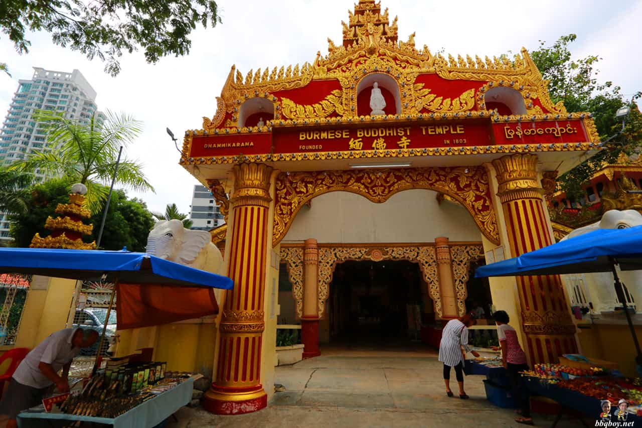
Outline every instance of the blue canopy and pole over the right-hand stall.
<path id="1" fill-rule="evenodd" d="M 575 236 L 521 256 L 478 267 L 476 278 L 487 276 L 530 276 L 612 272 L 615 291 L 620 299 L 627 323 L 642 365 L 638 337 L 627 309 L 627 299 L 618 277 L 616 265 L 622 271 L 642 269 L 642 226 L 625 229 L 598 229 Z"/>

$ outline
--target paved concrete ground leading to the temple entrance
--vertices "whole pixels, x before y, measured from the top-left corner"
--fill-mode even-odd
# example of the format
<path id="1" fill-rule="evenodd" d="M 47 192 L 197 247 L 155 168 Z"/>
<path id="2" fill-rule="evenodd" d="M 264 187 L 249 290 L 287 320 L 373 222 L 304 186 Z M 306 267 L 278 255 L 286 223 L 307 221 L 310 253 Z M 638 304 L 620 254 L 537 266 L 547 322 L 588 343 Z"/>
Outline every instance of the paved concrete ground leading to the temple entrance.
<path id="1" fill-rule="evenodd" d="M 516 427 L 514 410 L 486 400 L 482 376 L 465 377 L 470 400 L 446 396 L 442 364 L 421 349 L 322 350 L 323 355 L 276 369 L 275 382 L 286 389 L 256 413 L 216 416 L 184 407 L 178 422 L 186 427 Z M 455 373 L 452 374 L 453 383 Z M 457 391 L 454 384 L 453 391 Z M 534 415 L 535 425 L 550 426 L 554 416 Z M 594 421 L 587 421 L 593 425 Z M 564 417 L 557 427 L 579 427 Z"/>

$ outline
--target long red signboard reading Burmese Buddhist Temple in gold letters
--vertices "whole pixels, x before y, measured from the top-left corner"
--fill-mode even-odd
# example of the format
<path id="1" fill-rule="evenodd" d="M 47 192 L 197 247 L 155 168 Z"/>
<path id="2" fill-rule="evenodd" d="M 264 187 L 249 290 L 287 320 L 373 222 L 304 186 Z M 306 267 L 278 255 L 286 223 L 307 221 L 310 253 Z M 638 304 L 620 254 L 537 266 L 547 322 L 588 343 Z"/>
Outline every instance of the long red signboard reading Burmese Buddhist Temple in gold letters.
<path id="1" fill-rule="evenodd" d="M 349 152 L 589 141 L 581 120 L 358 123 L 336 127 L 275 128 L 261 134 L 194 136 L 191 157 L 302 152 Z"/>

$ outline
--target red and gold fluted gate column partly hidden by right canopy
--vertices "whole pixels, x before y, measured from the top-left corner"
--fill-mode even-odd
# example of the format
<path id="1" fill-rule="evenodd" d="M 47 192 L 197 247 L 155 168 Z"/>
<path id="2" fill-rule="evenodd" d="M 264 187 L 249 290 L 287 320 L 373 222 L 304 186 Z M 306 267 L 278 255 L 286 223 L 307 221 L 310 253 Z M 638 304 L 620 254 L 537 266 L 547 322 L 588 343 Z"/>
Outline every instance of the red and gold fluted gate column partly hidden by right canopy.
<path id="1" fill-rule="evenodd" d="M 537 156 L 514 154 L 492 161 L 513 257 L 553 244 L 537 183 Z M 530 362 L 557 362 L 577 352 L 575 325 L 559 275 L 517 276 Z"/>

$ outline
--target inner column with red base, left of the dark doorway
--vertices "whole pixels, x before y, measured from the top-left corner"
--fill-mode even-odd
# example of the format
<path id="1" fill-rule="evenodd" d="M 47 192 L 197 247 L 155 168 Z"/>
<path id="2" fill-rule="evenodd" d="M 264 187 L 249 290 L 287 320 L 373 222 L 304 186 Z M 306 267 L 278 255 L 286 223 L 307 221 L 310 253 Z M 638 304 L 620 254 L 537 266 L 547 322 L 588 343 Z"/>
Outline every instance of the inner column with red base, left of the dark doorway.
<path id="1" fill-rule="evenodd" d="M 301 339 L 305 346 L 303 357 L 317 357 L 319 351 L 318 269 L 319 254 L 316 239 L 306 240 L 303 250 L 303 316 Z"/>

